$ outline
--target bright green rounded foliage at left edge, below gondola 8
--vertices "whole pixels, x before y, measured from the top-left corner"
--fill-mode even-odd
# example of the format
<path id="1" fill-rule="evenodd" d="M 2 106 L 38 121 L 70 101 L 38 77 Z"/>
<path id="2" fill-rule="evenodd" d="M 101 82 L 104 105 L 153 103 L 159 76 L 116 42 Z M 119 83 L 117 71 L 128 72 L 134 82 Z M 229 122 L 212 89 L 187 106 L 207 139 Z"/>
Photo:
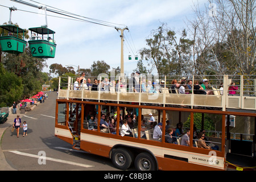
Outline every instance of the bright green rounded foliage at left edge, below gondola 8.
<path id="1" fill-rule="evenodd" d="M 22 78 L 5 71 L 2 63 L 0 63 L 0 82 L 0 107 L 11 106 L 14 101 L 22 98 Z"/>

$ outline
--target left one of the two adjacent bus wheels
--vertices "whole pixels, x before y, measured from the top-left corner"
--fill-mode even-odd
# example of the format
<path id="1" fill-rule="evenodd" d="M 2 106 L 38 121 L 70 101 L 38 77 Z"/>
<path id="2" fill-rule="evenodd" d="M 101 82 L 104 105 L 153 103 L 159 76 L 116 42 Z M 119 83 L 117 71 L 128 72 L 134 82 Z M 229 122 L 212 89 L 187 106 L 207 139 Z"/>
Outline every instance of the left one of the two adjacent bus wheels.
<path id="1" fill-rule="evenodd" d="M 123 148 L 114 149 L 112 152 L 111 160 L 116 168 L 122 170 L 129 168 L 131 166 L 131 162 L 133 161 L 130 152 Z"/>

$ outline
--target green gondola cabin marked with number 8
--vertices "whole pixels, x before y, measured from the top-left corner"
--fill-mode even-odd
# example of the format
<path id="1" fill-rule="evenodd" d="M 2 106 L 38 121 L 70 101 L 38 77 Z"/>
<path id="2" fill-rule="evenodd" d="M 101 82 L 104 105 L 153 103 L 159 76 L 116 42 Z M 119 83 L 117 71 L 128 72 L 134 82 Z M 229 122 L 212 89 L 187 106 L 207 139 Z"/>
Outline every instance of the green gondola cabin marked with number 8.
<path id="1" fill-rule="evenodd" d="M 24 40 L 24 30 L 13 24 L 0 26 L 2 34 L 0 36 L 0 46 L 3 52 L 7 53 L 23 53 L 26 47 Z M 22 38 L 20 34 L 22 35 Z"/>

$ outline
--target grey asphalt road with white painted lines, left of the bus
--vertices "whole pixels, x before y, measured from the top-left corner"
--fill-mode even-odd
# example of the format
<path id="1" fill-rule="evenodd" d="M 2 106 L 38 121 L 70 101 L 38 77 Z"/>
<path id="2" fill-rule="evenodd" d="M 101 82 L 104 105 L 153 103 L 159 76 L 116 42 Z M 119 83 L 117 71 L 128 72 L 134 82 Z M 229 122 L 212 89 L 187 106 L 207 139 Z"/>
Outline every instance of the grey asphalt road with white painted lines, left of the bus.
<path id="1" fill-rule="evenodd" d="M 8 127 L 2 135 L 1 147 L 6 162 L 18 171 L 118 171 L 108 158 L 73 150 L 71 144 L 55 137 L 56 92 L 48 100 L 26 112 L 22 122 L 28 124 L 28 135 L 19 138 Z"/>

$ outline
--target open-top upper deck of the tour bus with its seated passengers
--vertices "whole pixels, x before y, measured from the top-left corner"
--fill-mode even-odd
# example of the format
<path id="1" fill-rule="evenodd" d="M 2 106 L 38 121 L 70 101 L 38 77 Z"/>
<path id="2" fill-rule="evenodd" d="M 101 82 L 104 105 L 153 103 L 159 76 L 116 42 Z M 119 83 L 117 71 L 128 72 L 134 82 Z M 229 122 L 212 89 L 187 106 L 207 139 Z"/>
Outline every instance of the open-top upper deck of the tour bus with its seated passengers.
<path id="1" fill-rule="evenodd" d="M 138 76 L 138 84 L 134 84 L 130 79 L 131 77 L 115 76 L 110 77 L 110 81 L 102 79 L 106 77 L 88 77 L 92 80 L 90 85 L 86 86 L 85 82 L 83 82 L 78 84 L 78 88 L 75 88 L 77 86 L 75 83 L 76 78 L 60 77 L 58 98 L 97 102 L 111 101 L 117 104 L 135 102 L 138 105 L 256 113 L 256 75 L 186 76 L 186 84 L 188 80 L 193 83 L 191 90 L 183 85 L 187 92 L 186 94 L 179 93 L 181 84 L 179 86 L 173 84 L 173 80 L 181 81 L 181 76 L 146 77 L 140 75 Z M 88 78 L 85 79 L 88 80 Z M 92 89 L 95 86 L 92 86 L 94 78 L 101 81 L 96 90 L 95 88 Z M 195 83 L 199 81 L 199 85 L 201 85 L 200 81 L 203 81 L 203 78 L 208 80 L 208 86 L 205 88 L 205 93 L 207 94 L 196 94 L 197 86 Z M 150 81 L 153 83 L 152 85 L 150 85 Z M 108 82 L 109 85 L 104 85 L 105 82 Z M 235 83 L 237 90 L 231 90 L 232 82 Z M 203 84 L 207 85 L 205 82 Z"/>

